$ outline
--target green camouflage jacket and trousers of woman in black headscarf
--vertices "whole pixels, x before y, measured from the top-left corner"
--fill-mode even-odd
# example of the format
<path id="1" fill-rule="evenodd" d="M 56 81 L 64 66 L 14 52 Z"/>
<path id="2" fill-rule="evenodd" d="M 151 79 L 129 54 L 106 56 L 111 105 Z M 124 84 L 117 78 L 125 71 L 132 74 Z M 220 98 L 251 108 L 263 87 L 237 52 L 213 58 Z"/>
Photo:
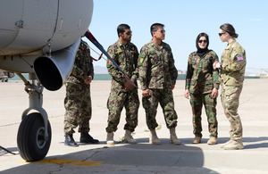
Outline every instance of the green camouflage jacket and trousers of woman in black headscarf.
<path id="1" fill-rule="evenodd" d="M 209 50 L 202 57 L 199 57 L 197 52 L 188 56 L 185 89 L 189 89 L 190 92 L 190 104 L 196 137 L 202 137 L 202 104 L 205 105 L 210 137 L 218 136 L 217 98 L 213 98 L 211 95 L 214 87 L 219 88 L 219 70 L 213 69 L 215 61 L 218 61 L 218 56 L 212 50 Z"/>

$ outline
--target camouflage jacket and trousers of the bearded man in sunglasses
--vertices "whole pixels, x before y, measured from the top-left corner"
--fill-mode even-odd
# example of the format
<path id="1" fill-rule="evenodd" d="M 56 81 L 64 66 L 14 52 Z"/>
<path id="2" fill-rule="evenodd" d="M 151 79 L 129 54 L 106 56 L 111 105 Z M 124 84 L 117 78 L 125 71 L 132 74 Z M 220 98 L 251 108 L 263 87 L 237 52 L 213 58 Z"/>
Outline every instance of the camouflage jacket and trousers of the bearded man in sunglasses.
<path id="1" fill-rule="evenodd" d="M 137 47 L 131 42 L 127 45 L 122 45 L 118 40 L 113 46 L 109 46 L 107 52 L 137 86 Z M 126 79 L 124 75 L 113 66 L 113 62 L 110 60 L 107 60 L 107 70 L 113 79 L 111 93 L 107 101 L 109 116 L 106 132 L 111 133 L 117 130 L 123 107 L 126 109 L 126 124 L 124 129 L 133 132 L 138 125 L 138 88 L 132 87 L 130 90 L 125 89 L 124 83 Z"/>

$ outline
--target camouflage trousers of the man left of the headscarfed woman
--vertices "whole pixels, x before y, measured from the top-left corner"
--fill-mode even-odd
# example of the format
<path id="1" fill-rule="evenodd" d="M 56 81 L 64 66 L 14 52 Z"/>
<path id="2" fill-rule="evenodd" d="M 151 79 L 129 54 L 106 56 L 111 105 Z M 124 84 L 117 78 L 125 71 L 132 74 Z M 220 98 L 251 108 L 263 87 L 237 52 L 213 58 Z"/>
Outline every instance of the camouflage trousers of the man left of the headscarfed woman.
<path id="1" fill-rule="evenodd" d="M 147 117 L 147 127 L 150 130 L 158 127 L 155 116 L 158 103 L 160 103 L 166 127 L 176 128 L 178 116 L 174 109 L 172 89 L 150 89 L 150 94 L 150 96 L 142 97 L 142 105 Z"/>

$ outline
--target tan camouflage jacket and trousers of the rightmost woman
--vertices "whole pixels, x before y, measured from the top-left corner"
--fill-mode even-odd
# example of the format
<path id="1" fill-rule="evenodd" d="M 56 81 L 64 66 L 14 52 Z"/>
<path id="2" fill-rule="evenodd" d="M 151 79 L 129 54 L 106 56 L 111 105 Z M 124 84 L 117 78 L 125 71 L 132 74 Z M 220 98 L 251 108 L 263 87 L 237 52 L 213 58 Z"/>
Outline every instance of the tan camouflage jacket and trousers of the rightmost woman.
<path id="1" fill-rule="evenodd" d="M 224 49 L 221 62 L 222 107 L 230 121 L 230 138 L 241 140 L 242 123 L 238 108 L 246 69 L 246 51 L 234 40 Z"/>

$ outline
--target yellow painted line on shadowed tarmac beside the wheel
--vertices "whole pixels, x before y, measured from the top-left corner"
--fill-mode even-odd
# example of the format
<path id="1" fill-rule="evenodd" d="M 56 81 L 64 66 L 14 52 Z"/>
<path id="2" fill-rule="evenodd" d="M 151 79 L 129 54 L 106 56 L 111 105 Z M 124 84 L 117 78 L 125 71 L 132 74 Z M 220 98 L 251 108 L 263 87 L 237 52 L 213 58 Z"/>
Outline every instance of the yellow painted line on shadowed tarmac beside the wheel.
<path id="1" fill-rule="evenodd" d="M 30 163 L 55 163 L 55 164 L 59 164 L 59 165 L 70 164 L 70 165 L 77 165 L 77 166 L 96 167 L 99 164 L 102 164 L 104 162 L 89 162 L 89 161 L 77 161 L 77 160 L 67 160 L 67 159 L 46 159 L 46 160 L 41 160 L 38 162 L 30 162 Z"/>

